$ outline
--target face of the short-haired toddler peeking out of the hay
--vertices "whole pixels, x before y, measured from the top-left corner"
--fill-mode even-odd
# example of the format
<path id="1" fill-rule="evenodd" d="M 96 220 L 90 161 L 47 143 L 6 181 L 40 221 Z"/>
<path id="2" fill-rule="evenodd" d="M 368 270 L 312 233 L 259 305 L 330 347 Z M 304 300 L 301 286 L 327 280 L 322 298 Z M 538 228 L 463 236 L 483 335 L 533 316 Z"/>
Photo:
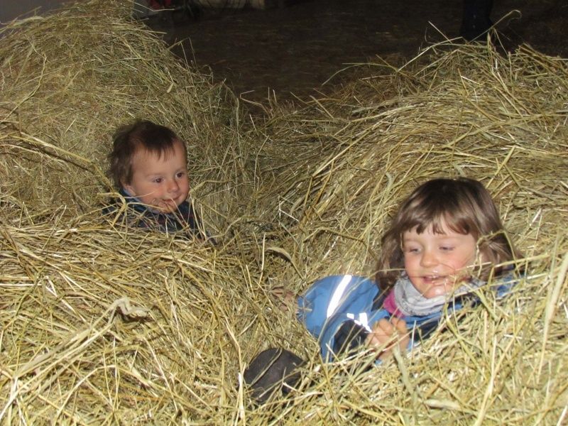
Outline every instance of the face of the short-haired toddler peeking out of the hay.
<path id="1" fill-rule="evenodd" d="M 173 152 L 165 152 L 161 157 L 138 149 L 132 158 L 132 180 L 123 186 L 152 209 L 161 213 L 175 212 L 190 192 L 182 142 L 175 141 Z"/>

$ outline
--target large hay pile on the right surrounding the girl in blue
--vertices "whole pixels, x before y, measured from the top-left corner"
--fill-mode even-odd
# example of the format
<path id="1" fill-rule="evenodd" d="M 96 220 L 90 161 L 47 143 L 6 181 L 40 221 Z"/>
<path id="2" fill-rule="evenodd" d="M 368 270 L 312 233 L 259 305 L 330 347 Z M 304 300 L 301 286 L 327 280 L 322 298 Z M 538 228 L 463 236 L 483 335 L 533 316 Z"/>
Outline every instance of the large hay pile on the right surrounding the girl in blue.
<path id="1" fill-rule="evenodd" d="M 288 158 L 290 146 L 300 158 L 276 170 L 259 196 L 288 231 L 278 249 L 290 254 L 290 266 L 280 277 L 301 293 L 323 275 L 372 275 L 400 201 L 428 178 L 466 175 L 496 198 L 525 253 L 528 280 L 502 305 L 489 300 L 464 322 L 448 322 L 449 332 L 395 366 L 364 377 L 345 374 L 348 364 L 315 374 L 319 386 L 297 393 L 283 418 L 560 423 L 568 361 L 567 61 L 525 47 L 501 56 L 488 46 L 442 45 L 418 62 L 382 77 L 362 72 L 342 91 L 267 122 L 266 163 Z M 397 94 L 385 99 L 385 92 Z"/>

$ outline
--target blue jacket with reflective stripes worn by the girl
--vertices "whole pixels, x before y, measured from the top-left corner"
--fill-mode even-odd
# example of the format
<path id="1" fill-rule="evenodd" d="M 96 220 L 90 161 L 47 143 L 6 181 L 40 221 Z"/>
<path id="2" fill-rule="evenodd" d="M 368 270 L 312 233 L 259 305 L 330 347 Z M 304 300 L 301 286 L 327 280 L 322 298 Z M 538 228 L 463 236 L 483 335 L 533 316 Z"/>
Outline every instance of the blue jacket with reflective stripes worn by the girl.
<path id="1" fill-rule="evenodd" d="M 495 287 L 498 297 L 508 293 L 513 281 L 508 279 Z M 391 314 L 383 309 L 382 295 L 375 281 L 353 275 L 332 275 L 317 280 L 298 298 L 297 317 L 308 331 L 320 341 L 324 361 L 332 361 L 335 354 L 355 349 L 363 344 L 366 334 L 381 318 Z M 474 295 L 456 297 L 438 312 L 422 317 L 405 317 L 411 331 L 408 350 L 430 335 L 447 312 L 461 309 L 466 303 L 476 303 Z M 349 326 L 349 327 L 347 327 Z M 355 333 L 351 332 L 353 329 Z M 356 334 L 356 335 L 354 335 Z M 350 339 L 351 342 L 345 342 Z M 340 342 L 341 341 L 341 342 Z M 344 346 L 347 344 L 347 346 Z"/>

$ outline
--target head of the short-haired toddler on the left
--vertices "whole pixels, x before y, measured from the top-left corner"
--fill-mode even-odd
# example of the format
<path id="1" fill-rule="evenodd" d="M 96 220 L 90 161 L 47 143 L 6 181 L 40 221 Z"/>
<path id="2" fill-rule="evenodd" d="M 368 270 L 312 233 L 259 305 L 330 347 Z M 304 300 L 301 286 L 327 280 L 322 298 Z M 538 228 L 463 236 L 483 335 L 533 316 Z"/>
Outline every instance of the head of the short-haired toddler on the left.
<path id="1" fill-rule="evenodd" d="M 115 185 L 158 212 L 174 212 L 190 190 L 185 143 L 165 126 L 139 120 L 114 133 Z"/>

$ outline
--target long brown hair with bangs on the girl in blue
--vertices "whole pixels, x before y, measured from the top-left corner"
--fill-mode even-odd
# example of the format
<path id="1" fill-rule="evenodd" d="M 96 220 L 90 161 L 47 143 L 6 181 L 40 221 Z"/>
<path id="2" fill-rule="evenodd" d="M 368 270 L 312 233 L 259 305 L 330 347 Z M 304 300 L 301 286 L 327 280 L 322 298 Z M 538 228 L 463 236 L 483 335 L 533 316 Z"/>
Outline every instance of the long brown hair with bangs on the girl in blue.
<path id="1" fill-rule="evenodd" d="M 410 194 L 383 234 L 376 273 L 381 290 L 392 288 L 403 271 L 404 232 L 416 229 L 422 234 L 432 226 L 434 233 L 442 234 L 442 224 L 459 234 L 474 236 L 484 260 L 479 273 L 482 280 L 487 280 L 493 266 L 520 257 L 481 182 L 469 178 L 433 179 Z M 497 275 L 500 269 L 495 271 Z"/>

